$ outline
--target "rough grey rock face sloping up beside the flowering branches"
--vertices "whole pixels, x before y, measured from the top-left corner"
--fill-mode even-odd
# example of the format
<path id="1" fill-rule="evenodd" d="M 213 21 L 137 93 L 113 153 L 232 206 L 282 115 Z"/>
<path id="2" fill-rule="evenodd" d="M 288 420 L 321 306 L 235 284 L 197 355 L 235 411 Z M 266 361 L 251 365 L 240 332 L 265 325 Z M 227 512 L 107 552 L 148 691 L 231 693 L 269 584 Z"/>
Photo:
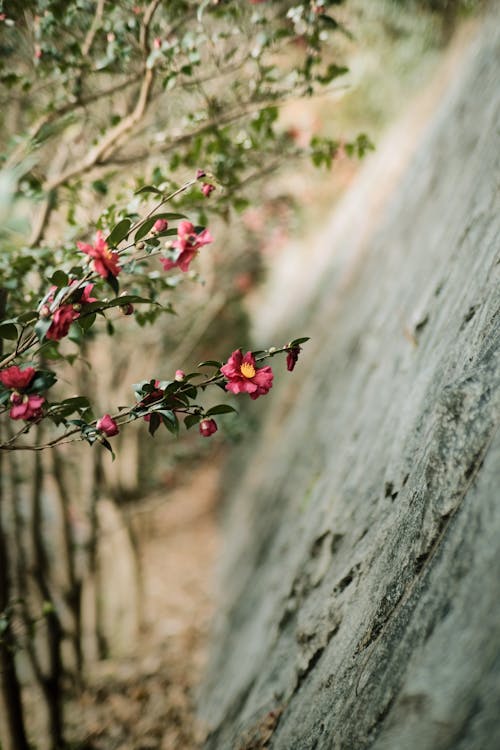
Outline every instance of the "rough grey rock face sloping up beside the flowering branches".
<path id="1" fill-rule="evenodd" d="M 500 747 L 499 52 L 490 19 L 238 465 L 207 750 Z"/>

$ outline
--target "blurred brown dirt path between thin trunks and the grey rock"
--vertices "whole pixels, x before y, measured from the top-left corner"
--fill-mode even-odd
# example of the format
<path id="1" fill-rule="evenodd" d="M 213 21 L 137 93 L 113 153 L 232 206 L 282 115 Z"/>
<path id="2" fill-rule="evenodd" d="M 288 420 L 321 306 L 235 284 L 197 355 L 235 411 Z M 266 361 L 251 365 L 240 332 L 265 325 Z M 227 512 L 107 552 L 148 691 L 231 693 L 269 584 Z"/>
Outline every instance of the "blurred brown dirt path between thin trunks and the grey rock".
<path id="1" fill-rule="evenodd" d="M 213 610 L 218 550 L 215 509 L 222 456 L 173 490 L 141 502 L 145 626 L 135 654 L 95 666 L 67 712 L 79 750 L 197 750 L 205 731 L 194 693 Z"/>

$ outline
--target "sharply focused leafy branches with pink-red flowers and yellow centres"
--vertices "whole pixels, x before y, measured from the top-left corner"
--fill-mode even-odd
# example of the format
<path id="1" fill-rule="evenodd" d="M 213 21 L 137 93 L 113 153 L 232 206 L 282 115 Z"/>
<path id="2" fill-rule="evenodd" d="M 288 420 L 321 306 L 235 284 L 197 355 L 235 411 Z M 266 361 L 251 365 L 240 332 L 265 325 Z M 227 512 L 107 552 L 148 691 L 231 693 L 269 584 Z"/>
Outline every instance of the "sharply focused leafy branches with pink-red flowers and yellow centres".
<path id="1" fill-rule="evenodd" d="M 204 172 L 201 175 L 204 176 Z M 195 177 L 203 179 L 202 176 Z M 184 189 L 192 185 L 188 181 Z M 189 270 L 191 262 L 198 251 L 213 242 L 208 229 L 195 227 L 182 214 L 161 214 L 160 209 L 168 202 L 170 196 L 162 196 L 156 207 L 146 219 L 122 219 L 105 237 L 101 230 L 96 233 L 93 245 L 78 241 L 77 248 L 91 260 L 90 270 L 86 263 L 73 266 L 70 274 L 58 271 L 53 274 L 53 282 L 40 300 L 37 310 L 28 316 L 20 315 L 10 318 L 3 326 L 5 338 L 15 340 L 14 349 L 3 355 L 0 360 L 0 413 L 9 410 L 13 420 L 23 420 L 25 427 L 13 438 L 0 447 L 4 450 L 40 449 L 44 445 L 28 443 L 24 436 L 34 424 L 42 419 L 51 420 L 60 430 L 60 434 L 46 443 L 52 447 L 60 442 L 86 440 L 89 444 L 96 442 L 111 450 L 108 438 L 118 435 L 120 428 L 139 418 L 148 422 L 148 429 L 154 435 L 160 425 L 178 434 L 180 420 L 189 429 L 199 425 L 203 437 L 210 437 L 217 429 L 214 416 L 235 411 L 228 404 L 219 404 L 205 410 L 198 398 L 207 387 L 220 385 L 232 394 L 248 393 L 256 399 L 269 392 L 274 374 L 269 365 L 259 367 L 257 362 L 278 353 L 287 353 L 288 360 L 294 358 L 295 364 L 300 344 L 306 339 L 297 339 L 281 349 L 272 349 L 255 353 L 248 351 L 243 355 L 241 349 L 233 351 L 226 364 L 218 361 L 200 363 L 199 367 L 215 368 L 209 377 L 200 372 L 188 375 L 177 369 L 172 380 L 153 378 L 134 386 L 136 403 L 121 407 L 110 415 L 104 414 L 99 419 L 94 417 L 90 402 L 84 397 L 74 397 L 61 402 L 47 401 L 46 391 L 56 382 L 56 373 L 47 369 L 37 371 L 32 366 L 21 369 L 11 362 L 22 356 L 29 356 L 30 350 L 43 351 L 47 341 L 59 342 L 70 335 L 72 327 L 77 325 L 81 333 L 88 333 L 96 323 L 98 316 L 113 307 L 154 304 L 151 298 L 138 295 L 123 295 L 119 291 L 117 276 L 120 272 L 131 273 L 134 260 L 145 254 L 146 258 L 159 255 L 164 271 L 179 268 L 183 273 Z M 168 219 L 165 218 L 168 216 Z M 169 229 L 169 222 L 178 222 L 176 229 Z M 175 260 L 166 259 L 158 249 L 158 237 L 175 232 L 177 239 L 173 243 L 177 251 Z M 132 235 L 134 240 L 130 242 Z M 93 296 L 94 290 L 106 283 L 114 292 L 110 299 Z M 95 292 L 98 294 L 98 291 Z M 158 303 L 156 303 L 158 304 Z M 14 335 L 12 335 L 14 334 Z M 288 369 L 293 369 L 288 364 Z"/>

